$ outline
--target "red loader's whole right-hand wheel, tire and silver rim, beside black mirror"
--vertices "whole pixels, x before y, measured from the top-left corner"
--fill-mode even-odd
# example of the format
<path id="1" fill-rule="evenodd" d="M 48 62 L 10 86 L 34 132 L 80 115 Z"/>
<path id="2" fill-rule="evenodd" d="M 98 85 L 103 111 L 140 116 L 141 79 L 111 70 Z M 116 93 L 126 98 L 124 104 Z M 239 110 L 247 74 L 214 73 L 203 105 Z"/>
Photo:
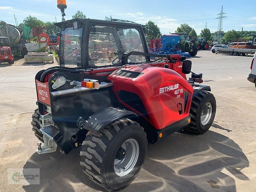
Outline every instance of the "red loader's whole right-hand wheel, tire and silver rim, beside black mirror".
<path id="1" fill-rule="evenodd" d="M 212 93 L 197 92 L 193 98 L 189 111 L 190 124 L 185 128 L 192 132 L 203 134 L 212 126 L 216 113 L 216 100 Z"/>

